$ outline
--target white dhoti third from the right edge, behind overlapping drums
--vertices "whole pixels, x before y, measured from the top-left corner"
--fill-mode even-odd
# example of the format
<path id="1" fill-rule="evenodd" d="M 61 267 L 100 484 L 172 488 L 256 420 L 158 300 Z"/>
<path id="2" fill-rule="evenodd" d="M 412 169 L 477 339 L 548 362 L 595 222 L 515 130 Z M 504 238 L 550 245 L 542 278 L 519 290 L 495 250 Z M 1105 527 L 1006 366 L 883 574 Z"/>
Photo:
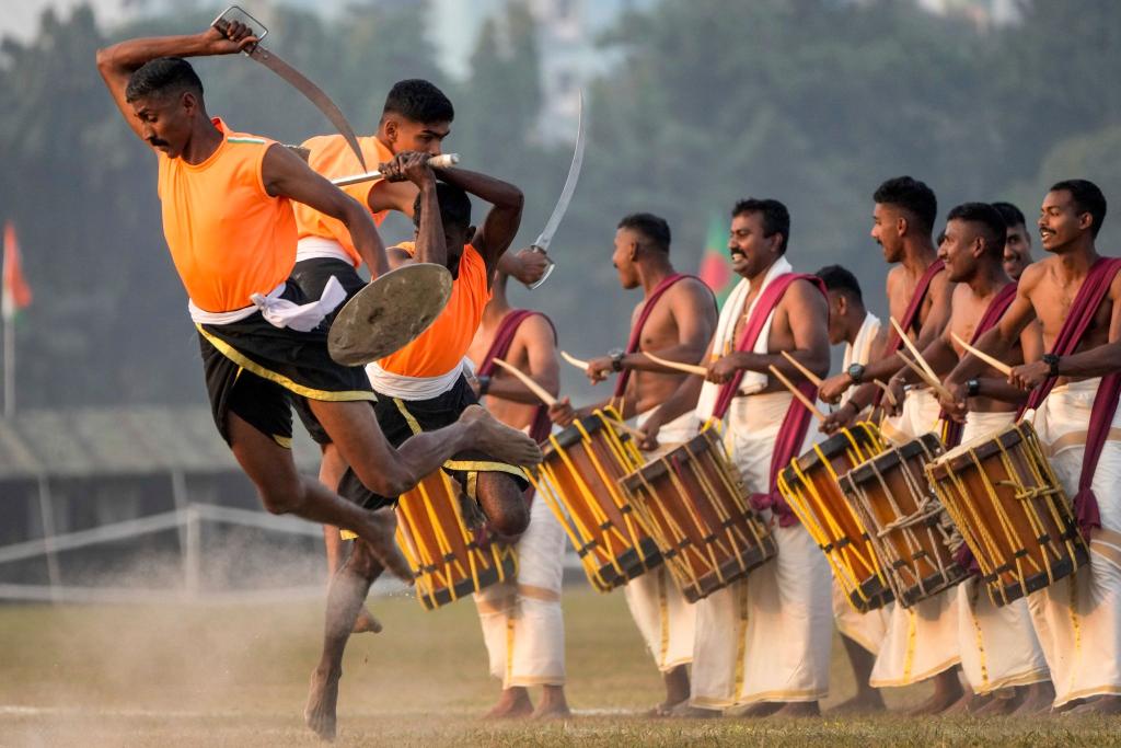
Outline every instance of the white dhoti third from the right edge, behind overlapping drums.
<path id="1" fill-rule="evenodd" d="M 902 413 L 884 418 L 883 436 L 895 445 L 938 427 L 938 400 L 928 389 L 912 389 Z M 951 588 L 912 606 L 892 606 L 888 632 L 876 656 L 869 683 L 877 687 L 910 685 L 955 666 L 957 646 L 957 590 Z"/>

